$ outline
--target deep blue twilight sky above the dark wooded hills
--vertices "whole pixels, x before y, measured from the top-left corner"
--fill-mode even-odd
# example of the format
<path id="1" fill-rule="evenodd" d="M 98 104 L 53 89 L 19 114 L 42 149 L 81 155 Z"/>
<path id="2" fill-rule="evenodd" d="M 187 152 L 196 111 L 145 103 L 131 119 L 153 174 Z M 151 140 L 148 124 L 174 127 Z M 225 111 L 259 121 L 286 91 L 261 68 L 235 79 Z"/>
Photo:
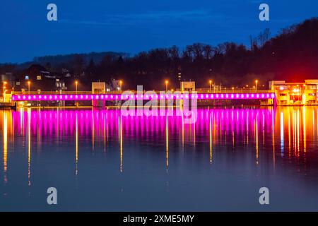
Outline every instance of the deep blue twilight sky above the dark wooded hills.
<path id="1" fill-rule="evenodd" d="M 47 4 L 57 4 L 57 22 Z M 259 20 L 259 4 L 270 21 Z M 317 0 L 1 0 L 0 62 L 36 56 L 117 51 L 233 41 L 249 44 L 265 28 L 281 28 L 318 16 Z"/>

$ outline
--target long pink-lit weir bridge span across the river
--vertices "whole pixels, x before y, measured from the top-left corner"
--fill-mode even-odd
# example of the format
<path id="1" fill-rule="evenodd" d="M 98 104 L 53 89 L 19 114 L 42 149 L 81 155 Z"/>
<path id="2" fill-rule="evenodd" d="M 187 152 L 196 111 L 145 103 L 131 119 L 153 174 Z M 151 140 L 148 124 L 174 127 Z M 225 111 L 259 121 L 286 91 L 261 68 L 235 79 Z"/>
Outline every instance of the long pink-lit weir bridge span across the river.
<path id="1" fill-rule="evenodd" d="M 274 105 L 276 94 L 267 90 L 257 93 L 28 93 L 12 94 L 11 101 L 19 102 L 66 102 L 91 101 L 93 107 L 105 107 L 105 102 L 119 102 L 125 100 L 261 100 L 264 105 Z"/>

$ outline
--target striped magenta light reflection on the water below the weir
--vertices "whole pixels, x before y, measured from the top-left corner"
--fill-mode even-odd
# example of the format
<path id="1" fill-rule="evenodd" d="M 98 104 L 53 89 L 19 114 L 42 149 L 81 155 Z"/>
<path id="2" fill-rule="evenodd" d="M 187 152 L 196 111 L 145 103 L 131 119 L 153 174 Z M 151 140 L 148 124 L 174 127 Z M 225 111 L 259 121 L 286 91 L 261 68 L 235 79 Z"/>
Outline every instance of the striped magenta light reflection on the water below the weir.
<path id="1" fill-rule="evenodd" d="M 15 131 L 25 134 L 25 126 L 28 114 L 25 111 L 12 112 L 15 121 Z M 103 140 L 104 131 L 108 131 L 112 137 L 119 134 L 119 110 L 39 110 L 34 109 L 30 113 L 32 126 L 30 132 L 33 136 L 44 136 L 46 139 L 63 140 L 69 136 L 75 136 L 76 118 L 78 119 L 78 136 L 83 139 Z M 210 118 L 213 121 L 213 129 L 217 131 L 213 139 L 228 142 L 225 133 L 234 133 L 236 136 L 254 136 L 255 122 L 258 121 L 261 133 L 271 133 L 273 129 L 272 109 L 198 109 L 196 124 L 183 124 L 180 116 L 168 116 L 167 123 L 170 134 L 180 134 L 187 138 L 185 141 L 202 141 L 204 134 L 209 133 Z M 105 120 L 104 120 L 105 119 Z M 105 123 L 104 123 L 105 121 Z M 122 117 L 123 136 L 134 139 L 164 140 L 166 126 L 165 116 L 126 116 Z M 195 131 L 195 133 L 194 133 Z M 40 133 L 40 134 L 39 134 Z M 248 143 L 248 141 L 247 141 Z"/>

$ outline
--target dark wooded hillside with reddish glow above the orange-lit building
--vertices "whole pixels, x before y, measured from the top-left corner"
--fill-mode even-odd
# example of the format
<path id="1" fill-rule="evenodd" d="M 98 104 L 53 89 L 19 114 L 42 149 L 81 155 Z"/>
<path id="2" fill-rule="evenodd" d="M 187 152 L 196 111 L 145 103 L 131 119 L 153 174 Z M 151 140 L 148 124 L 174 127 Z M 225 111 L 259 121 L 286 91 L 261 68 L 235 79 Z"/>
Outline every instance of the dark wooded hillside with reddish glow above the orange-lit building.
<path id="1" fill-rule="evenodd" d="M 318 19 L 283 29 L 254 51 L 249 70 L 274 73 L 276 79 L 290 81 L 318 78 Z"/>

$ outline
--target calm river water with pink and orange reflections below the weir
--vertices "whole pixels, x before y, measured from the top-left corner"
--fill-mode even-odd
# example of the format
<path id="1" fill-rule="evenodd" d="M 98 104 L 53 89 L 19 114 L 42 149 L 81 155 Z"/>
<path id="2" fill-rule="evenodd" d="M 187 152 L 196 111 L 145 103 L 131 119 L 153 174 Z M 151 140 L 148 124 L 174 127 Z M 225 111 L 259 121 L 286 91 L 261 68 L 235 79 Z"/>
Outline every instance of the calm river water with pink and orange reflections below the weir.
<path id="1" fill-rule="evenodd" d="M 1 110 L 0 210 L 318 210 L 317 121 L 317 107 L 199 109 L 196 124 Z"/>

